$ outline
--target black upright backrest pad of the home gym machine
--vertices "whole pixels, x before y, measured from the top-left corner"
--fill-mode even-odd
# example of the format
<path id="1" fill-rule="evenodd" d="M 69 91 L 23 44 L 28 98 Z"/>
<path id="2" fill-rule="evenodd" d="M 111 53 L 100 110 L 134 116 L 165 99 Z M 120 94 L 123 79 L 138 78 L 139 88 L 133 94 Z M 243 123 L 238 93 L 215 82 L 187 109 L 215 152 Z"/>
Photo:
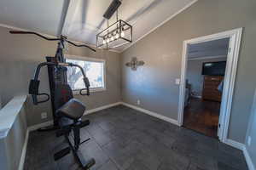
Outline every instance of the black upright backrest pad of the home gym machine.
<path id="1" fill-rule="evenodd" d="M 73 99 L 72 89 L 68 84 L 55 85 L 55 109 L 65 105 L 70 99 Z"/>

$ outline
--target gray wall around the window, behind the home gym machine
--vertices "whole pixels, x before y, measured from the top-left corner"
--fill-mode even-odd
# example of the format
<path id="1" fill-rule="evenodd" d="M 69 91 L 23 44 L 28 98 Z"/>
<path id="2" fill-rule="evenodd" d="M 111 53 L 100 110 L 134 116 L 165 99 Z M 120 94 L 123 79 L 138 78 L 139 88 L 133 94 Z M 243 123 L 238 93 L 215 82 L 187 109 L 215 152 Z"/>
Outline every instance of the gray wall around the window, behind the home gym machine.
<path id="1" fill-rule="evenodd" d="M 28 84 L 33 77 L 34 70 L 40 62 L 44 62 L 45 56 L 54 56 L 56 42 L 49 42 L 32 35 L 11 35 L 9 29 L 0 27 L 0 37 L 4 42 L 0 45 L 0 96 L 3 104 L 15 95 L 28 94 Z M 102 105 L 113 104 L 120 101 L 120 57 L 119 54 L 106 50 L 90 52 L 87 48 L 69 47 L 67 54 L 80 55 L 106 59 L 107 66 L 107 90 L 91 93 L 90 97 L 81 98 L 88 109 Z M 49 92 L 47 69 L 41 71 L 41 92 Z M 27 101 L 29 112 L 27 113 L 28 126 L 46 122 L 51 119 L 50 103 L 32 105 L 32 99 Z M 41 120 L 40 114 L 48 113 L 48 118 Z"/>

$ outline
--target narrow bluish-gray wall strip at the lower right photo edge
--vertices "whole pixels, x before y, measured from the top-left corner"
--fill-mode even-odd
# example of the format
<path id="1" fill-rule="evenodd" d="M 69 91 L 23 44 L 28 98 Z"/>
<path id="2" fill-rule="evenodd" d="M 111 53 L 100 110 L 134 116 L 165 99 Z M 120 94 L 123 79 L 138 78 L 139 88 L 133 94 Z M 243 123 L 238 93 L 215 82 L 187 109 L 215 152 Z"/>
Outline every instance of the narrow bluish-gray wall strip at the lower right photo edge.
<path id="1" fill-rule="evenodd" d="M 253 161 L 254 167 L 256 167 L 256 90 L 254 94 L 252 113 L 250 117 L 250 122 L 247 129 L 247 140 L 246 147 L 249 152 L 249 155 Z M 251 137 L 251 144 L 247 143 L 248 137 Z"/>

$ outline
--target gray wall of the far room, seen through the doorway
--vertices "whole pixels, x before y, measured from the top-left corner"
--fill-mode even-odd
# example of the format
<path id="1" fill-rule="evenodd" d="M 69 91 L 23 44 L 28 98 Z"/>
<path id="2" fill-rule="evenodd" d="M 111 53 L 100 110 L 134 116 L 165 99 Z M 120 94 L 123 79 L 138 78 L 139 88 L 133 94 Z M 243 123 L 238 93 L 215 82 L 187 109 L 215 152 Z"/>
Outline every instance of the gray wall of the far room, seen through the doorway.
<path id="1" fill-rule="evenodd" d="M 203 82 L 204 77 L 201 75 L 202 71 L 202 64 L 204 62 L 214 62 L 214 61 L 225 61 L 227 59 L 195 59 L 195 60 L 189 60 L 188 61 L 188 68 L 187 68 L 187 79 L 189 80 L 189 83 L 191 84 L 192 92 L 195 94 L 195 96 L 201 96 L 202 95 L 202 89 L 203 89 Z"/>

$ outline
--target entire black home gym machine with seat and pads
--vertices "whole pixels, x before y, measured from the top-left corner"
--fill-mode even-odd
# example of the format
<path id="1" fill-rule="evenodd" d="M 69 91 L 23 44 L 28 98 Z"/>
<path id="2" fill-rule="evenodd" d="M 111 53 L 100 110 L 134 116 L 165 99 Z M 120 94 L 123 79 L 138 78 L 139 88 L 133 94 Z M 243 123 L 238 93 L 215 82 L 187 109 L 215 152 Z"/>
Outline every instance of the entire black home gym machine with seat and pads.
<path id="1" fill-rule="evenodd" d="M 90 95 L 90 82 L 80 65 L 66 62 L 66 59 L 63 55 L 63 50 L 65 49 L 67 43 L 70 43 L 75 47 L 90 47 L 84 44 L 79 45 L 74 42 L 70 42 L 67 40 L 67 37 L 64 36 L 61 36 L 60 38 L 49 38 L 32 31 L 9 32 L 11 34 L 33 34 L 48 41 L 58 41 L 55 57 L 46 57 L 47 61 L 40 63 L 37 66 L 35 75 L 29 84 L 29 94 L 32 95 L 32 101 L 34 105 L 47 102 L 49 99 L 51 99 L 54 125 L 53 127 L 40 130 L 48 131 L 57 129 L 56 136 L 64 136 L 67 140 L 67 143 L 69 144 L 67 148 L 55 153 L 55 161 L 61 159 L 63 156 L 67 156 L 67 154 L 69 154 L 72 150 L 75 160 L 79 163 L 79 167 L 82 167 L 83 169 L 89 169 L 95 164 L 95 160 L 92 158 L 88 161 L 84 161 L 84 159 L 82 159 L 81 153 L 79 152 L 79 145 L 89 140 L 85 139 L 83 142 L 80 142 L 80 129 L 82 127 L 88 126 L 90 122 L 89 120 L 81 120 L 81 117 L 84 115 L 85 106 L 78 99 L 73 98 L 72 89 L 67 84 L 67 67 L 77 67 L 83 75 L 85 88 L 80 89 L 79 94 Z M 96 51 L 93 48 L 90 48 L 90 50 L 94 52 Z M 48 67 L 50 95 L 46 93 L 39 93 L 40 81 L 38 78 L 41 68 L 44 66 Z M 71 140 L 72 138 L 70 137 L 73 137 L 73 140 Z"/>

